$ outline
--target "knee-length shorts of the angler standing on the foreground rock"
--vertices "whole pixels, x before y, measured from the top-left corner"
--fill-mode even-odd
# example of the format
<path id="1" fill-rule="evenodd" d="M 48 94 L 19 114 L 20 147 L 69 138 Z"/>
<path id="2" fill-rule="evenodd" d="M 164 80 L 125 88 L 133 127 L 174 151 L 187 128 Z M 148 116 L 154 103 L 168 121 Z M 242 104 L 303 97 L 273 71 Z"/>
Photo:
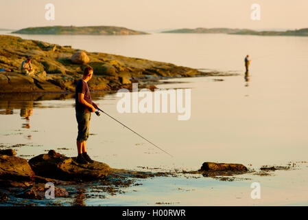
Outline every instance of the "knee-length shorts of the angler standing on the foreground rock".
<path id="1" fill-rule="evenodd" d="M 91 113 L 76 111 L 76 120 L 78 122 L 78 136 L 79 142 L 88 140 L 88 129 L 90 128 Z"/>

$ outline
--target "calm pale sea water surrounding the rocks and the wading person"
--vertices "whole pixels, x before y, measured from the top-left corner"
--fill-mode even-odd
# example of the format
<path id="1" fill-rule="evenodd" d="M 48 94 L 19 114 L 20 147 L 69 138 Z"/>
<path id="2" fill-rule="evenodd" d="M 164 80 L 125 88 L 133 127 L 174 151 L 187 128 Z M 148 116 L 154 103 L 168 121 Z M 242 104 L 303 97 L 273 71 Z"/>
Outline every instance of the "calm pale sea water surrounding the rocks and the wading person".
<path id="1" fill-rule="evenodd" d="M 256 168 L 307 161 L 308 38 L 226 34 L 21 37 L 239 74 L 172 79 L 168 81 L 174 84 L 159 85 L 191 88 L 191 118 L 187 121 L 178 121 L 177 113 L 120 114 L 115 94 L 93 95 L 106 112 L 174 155 L 161 153 L 106 115 L 98 118 L 93 114 L 88 153 L 112 167 L 196 170 L 205 161 L 252 164 Z M 248 78 L 244 78 L 246 54 L 252 58 Z M 25 144 L 16 150 L 27 159 L 51 148 L 75 156 L 73 104 L 73 97 L 63 94 L 1 97 L 0 143 Z M 279 171 L 272 177 L 250 176 L 252 180 L 232 183 L 161 177 L 144 180 L 143 186 L 134 188 L 137 192 L 131 189 L 125 195 L 104 201 L 88 199 L 87 203 L 307 204 L 307 174 L 307 165 L 303 165 L 300 170 Z M 264 187 L 259 201 L 250 199 L 252 181 Z M 161 192 L 161 186 L 166 192 Z"/>

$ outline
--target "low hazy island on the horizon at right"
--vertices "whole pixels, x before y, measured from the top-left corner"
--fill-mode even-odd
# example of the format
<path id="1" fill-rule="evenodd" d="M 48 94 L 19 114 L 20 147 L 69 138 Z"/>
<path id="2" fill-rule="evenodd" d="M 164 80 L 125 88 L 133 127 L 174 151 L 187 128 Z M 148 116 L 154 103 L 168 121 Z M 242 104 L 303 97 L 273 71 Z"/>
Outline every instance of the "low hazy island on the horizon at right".
<path id="1" fill-rule="evenodd" d="M 261 36 L 308 36 L 308 28 L 299 30 L 286 31 L 255 31 L 249 29 L 238 28 L 182 28 L 176 30 L 169 30 L 161 33 L 195 33 L 195 34 L 243 34 L 243 35 L 261 35 Z"/>

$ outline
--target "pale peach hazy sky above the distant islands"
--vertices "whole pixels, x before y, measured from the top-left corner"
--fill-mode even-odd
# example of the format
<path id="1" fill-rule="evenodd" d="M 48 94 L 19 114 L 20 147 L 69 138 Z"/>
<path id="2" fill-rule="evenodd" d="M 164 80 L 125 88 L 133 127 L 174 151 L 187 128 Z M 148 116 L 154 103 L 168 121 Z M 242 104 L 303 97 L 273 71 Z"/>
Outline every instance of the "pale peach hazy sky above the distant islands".
<path id="1" fill-rule="evenodd" d="M 55 21 L 45 19 L 54 3 Z M 250 6 L 261 5 L 261 21 Z M 308 28 L 308 0 L 0 0 L 0 28 L 45 25 L 115 25 L 166 28 Z"/>

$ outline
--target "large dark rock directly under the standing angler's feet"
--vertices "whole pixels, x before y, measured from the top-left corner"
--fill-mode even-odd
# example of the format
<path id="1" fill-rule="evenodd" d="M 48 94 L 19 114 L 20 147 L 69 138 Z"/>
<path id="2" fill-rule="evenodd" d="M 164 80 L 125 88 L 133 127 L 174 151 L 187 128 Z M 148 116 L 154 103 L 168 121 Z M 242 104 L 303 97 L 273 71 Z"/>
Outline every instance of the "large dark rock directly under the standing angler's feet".
<path id="1" fill-rule="evenodd" d="M 102 162 L 78 164 L 76 157 L 66 157 L 56 151 L 33 157 L 29 164 L 36 175 L 70 181 L 100 179 L 111 172 L 111 168 Z"/>

